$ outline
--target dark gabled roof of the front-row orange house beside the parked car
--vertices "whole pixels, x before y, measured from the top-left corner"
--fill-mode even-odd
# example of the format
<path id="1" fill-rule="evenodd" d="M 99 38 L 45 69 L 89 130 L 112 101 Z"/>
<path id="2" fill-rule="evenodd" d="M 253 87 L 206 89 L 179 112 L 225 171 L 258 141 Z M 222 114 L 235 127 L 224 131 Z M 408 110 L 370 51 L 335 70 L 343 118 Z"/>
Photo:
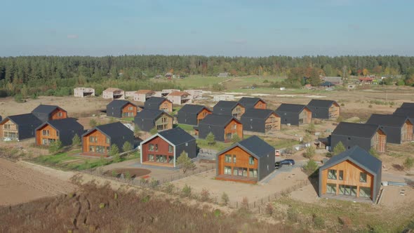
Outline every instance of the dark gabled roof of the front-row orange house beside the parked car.
<path id="1" fill-rule="evenodd" d="M 223 154 L 229 149 L 233 149 L 237 146 L 241 147 L 241 149 L 246 150 L 246 152 L 256 158 L 267 157 L 267 154 L 269 154 L 270 151 L 274 152 L 274 147 L 265 142 L 265 140 L 262 140 L 258 136 L 253 135 L 250 138 L 246 138 L 245 140 L 241 140 L 240 142 L 235 143 L 231 147 L 223 149 L 221 152 L 218 152 L 218 154 Z"/>

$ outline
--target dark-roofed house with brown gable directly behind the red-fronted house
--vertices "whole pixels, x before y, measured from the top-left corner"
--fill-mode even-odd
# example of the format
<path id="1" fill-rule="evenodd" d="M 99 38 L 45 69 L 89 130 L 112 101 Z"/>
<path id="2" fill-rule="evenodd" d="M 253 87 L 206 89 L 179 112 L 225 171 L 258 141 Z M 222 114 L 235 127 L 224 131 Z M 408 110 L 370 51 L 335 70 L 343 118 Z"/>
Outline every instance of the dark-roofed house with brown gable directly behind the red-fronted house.
<path id="1" fill-rule="evenodd" d="M 173 128 L 173 116 L 161 110 L 142 109 L 134 118 L 135 126 L 140 130 L 149 132 L 152 128 L 165 131 Z"/>

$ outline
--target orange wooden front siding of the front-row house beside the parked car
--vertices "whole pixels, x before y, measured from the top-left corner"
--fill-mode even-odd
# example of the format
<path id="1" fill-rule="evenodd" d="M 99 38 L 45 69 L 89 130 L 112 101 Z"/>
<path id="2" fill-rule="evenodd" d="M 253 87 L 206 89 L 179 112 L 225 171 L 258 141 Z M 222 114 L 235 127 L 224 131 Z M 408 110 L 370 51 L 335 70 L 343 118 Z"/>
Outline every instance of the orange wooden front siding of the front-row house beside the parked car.
<path id="1" fill-rule="evenodd" d="M 230 162 L 225 161 L 226 154 L 232 155 L 232 159 Z M 236 163 L 234 163 L 233 157 L 236 157 Z M 232 169 L 232 173 L 227 174 L 229 176 L 227 176 L 226 178 L 220 178 L 220 180 L 232 180 L 243 182 L 243 178 L 245 178 L 246 180 L 244 180 L 244 182 L 248 182 L 248 178 L 251 178 L 249 171 L 251 169 L 258 169 L 258 159 L 253 157 L 254 164 L 249 164 L 250 157 L 253 156 L 251 156 L 251 154 L 248 154 L 248 152 L 241 149 L 240 147 L 234 147 L 233 149 L 229 149 L 227 152 L 220 154 L 218 156 L 218 176 L 225 175 L 225 166 L 230 167 Z M 241 175 L 234 175 L 234 168 L 248 168 L 247 177 Z M 255 179 L 257 182 L 257 178 Z"/>

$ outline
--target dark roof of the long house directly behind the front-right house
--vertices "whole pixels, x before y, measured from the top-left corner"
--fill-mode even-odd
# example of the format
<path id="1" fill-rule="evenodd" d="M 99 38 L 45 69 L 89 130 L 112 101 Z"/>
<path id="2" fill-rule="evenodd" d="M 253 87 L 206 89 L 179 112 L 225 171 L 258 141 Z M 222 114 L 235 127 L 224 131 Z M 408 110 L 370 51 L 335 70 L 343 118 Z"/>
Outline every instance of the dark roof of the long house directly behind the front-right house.
<path id="1" fill-rule="evenodd" d="M 354 136 L 358 138 L 372 138 L 380 126 L 373 124 L 357 124 L 340 122 L 333 130 L 332 135 Z"/>

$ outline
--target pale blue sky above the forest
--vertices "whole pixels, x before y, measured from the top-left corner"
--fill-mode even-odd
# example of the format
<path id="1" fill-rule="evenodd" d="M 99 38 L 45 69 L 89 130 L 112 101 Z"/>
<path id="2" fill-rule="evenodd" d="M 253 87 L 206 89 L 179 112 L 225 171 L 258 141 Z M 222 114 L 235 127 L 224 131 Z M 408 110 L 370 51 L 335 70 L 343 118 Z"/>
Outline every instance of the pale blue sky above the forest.
<path id="1" fill-rule="evenodd" d="M 414 55 L 412 0 L 3 0 L 0 56 Z"/>

